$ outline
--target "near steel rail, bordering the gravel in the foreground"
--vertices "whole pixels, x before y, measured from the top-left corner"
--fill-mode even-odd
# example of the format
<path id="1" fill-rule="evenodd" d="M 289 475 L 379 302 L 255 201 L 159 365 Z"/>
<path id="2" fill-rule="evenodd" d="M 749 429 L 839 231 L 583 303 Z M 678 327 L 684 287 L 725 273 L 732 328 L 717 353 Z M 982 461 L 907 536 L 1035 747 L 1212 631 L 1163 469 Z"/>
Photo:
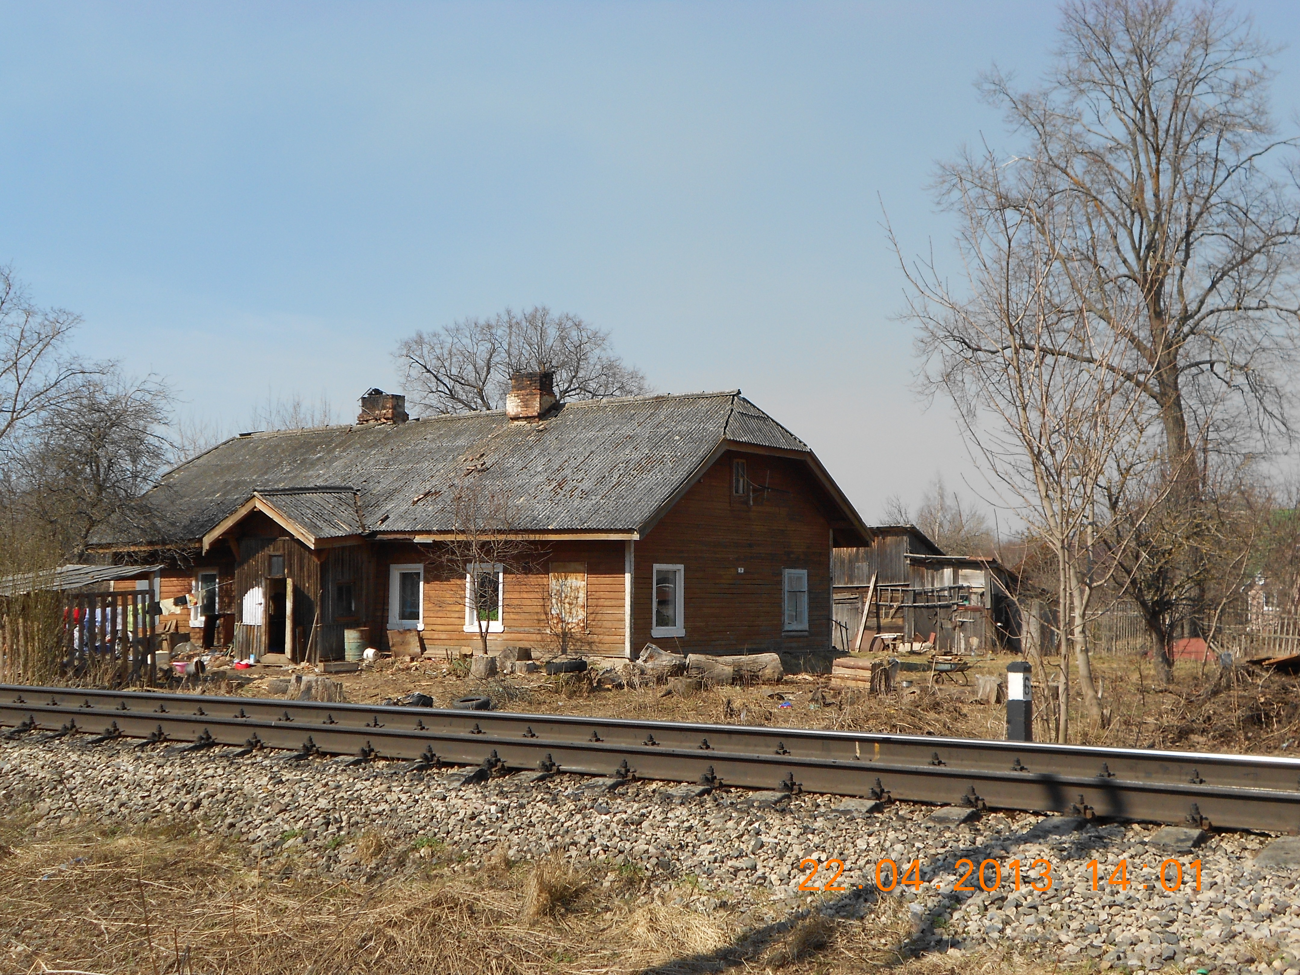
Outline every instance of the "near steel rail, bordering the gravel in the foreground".
<path id="1" fill-rule="evenodd" d="M 26 696 L 23 696 L 26 697 Z M 359 758 L 413 759 L 424 764 L 478 764 L 486 770 L 542 768 L 614 779 L 702 781 L 759 789 L 788 789 L 907 800 L 975 807 L 1054 811 L 1160 823 L 1192 823 L 1234 829 L 1300 831 L 1300 792 L 1223 786 L 1208 783 L 1131 781 L 1122 777 L 1056 772 L 994 771 L 907 764 L 871 759 L 832 759 L 755 754 L 701 748 L 610 741 L 502 736 L 482 728 L 416 728 L 380 722 L 358 727 L 333 719 L 333 705 L 316 706 L 316 722 L 239 718 L 233 714 L 181 714 L 170 708 L 126 710 L 68 702 L 43 706 L 0 702 L 0 725 L 30 732 L 86 732 L 155 742 L 261 745 L 300 755 L 356 754 Z M 160 696 L 138 698 L 157 701 Z M 191 698 L 192 699 L 192 698 Z M 222 698 L 200 698 L 205 702 Z M 224 701 L 240 701 L 225 698 Z M 162 703 L 162 702 L 159 702 Z M 243 711 L 247 714 L 247 702 Z M 278 702 L 277 702 L 278 703 Z M 410 711 L 410 710 L 408 710 Z M 320 714 L 325 714 L 321 719 Z M 425 716 L 429 711 L 422 711 Z M 328 723 L 333 720 L 333 723 Z M 420 720 L 416 718 L 415 720 Z"/>

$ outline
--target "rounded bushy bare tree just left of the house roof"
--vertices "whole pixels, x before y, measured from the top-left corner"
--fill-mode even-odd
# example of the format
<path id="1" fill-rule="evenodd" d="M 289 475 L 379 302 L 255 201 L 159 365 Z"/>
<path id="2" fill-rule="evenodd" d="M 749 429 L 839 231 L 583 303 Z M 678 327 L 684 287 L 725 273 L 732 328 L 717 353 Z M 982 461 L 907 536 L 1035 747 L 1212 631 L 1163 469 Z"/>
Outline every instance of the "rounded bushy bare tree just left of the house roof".
<path id="1" fill-rule="evenodd" d="M 14 500 L 66 558 L 84 558 L 96 529 L 110 523 L 153 537 L 139 498 L 170 458 L 169 408 L 155 380 L 110 372 L 82 377 L 32 420 L 14 458 Z"/>

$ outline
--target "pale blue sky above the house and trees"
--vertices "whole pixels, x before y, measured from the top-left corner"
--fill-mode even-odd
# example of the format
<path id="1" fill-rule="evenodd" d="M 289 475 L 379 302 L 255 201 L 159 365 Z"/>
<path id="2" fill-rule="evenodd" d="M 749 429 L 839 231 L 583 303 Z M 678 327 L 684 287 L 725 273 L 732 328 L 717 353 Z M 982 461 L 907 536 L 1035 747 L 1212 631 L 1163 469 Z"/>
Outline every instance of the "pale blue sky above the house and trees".
<path id="1" fill-rule="evenodd" d="M 1288 46 L 1300 6 L 1243 4 Z M 0 3 L 0 263 L 81 312 L 86 352 L 246 429 L 343 416 L 417 328 L 547 304 L 662 391 L 741 387 L 862 514 L 970 462 L 910 390 L 881 205 L 1006 143 L 972 87 L 1030 81 L 1044 3 Z M 1005 521 L 1004 521 L 1005 524 Z"/>

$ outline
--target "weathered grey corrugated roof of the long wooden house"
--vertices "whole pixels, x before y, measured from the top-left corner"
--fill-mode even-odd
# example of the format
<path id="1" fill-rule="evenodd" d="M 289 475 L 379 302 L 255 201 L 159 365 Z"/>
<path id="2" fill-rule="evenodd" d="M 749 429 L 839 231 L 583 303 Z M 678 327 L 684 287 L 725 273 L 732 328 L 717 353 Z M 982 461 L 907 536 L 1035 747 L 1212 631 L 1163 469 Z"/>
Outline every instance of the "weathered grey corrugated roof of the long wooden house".
<path id="1" fill-rule="evenodd" d="M 738 390 L 563 403 L 534 424 L 493 411 L 255 433 L 190 460 L 146 495 L 166 540 L 122 532 L 96 542 L 199 538 L 255 491 L 335 533 L 451 532 L 452 494 L 467 477 L 508 490 L 516 530 L 634 532 L 723 441 L 811 454 Z"/>

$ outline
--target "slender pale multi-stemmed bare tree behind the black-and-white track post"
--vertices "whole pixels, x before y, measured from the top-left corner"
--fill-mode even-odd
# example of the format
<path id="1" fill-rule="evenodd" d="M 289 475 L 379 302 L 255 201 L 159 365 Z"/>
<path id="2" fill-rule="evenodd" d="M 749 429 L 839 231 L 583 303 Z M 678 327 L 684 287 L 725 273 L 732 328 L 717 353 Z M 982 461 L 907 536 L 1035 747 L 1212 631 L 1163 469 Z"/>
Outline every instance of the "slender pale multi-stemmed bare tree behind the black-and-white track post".
<path id="1" fill-rule="evenodd" d="M 1157 463 L 1147 436 L 1150 411 L 1114 368 L 1123 342 L 1114 329 L 1095 328 L 1096 316 L 1062 268 L 1060 247 L 1075 213 L 1053 208 L 1060 198 L 1044 192 L 1050 172 L 1026 168 L 1004 182 L 987 165 L 993 172 L 979 168 L 979 182 L 957 173 L 949 186 L 966 268 L 961 292 L 933 265 L 909 264 L 900 251 L 913 287 L 910 316 L 927 360 L 924 380 L 952 396 L 985 472 L 1056 558 L 1061 645 L 1074 651 L 1088 716 L 1102 722 L 1087 623 L 1109 572 L 1098 578 L 1093 552 L 1101 534 L 1115 551 L 1130 538 L 1114 530 L 1108 504 L 1126 502 L 1128 485 Z M 1114 304 L 1104 311 L 1112 322 L 1136 313 Z M 1036 663 L 1041 672 L 1041 658 Z M 1056 724 L 1058 740 L 1067 741 L 1065 706 Z"/>

